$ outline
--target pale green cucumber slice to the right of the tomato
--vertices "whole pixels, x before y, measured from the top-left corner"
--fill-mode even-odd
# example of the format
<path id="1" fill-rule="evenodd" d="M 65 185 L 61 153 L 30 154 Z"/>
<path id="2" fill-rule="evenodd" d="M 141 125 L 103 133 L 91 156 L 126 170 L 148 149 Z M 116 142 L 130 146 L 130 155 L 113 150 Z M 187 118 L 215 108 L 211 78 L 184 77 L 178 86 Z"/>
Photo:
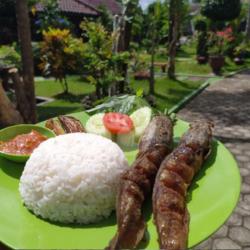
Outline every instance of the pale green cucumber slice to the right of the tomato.
<path id="1" fill-rule="evenodd" d="M 139 141 L 144 130 L 150 123 L 152 110 L 148 107 L 140 108 L 130 115 L 135 128 L 135 140 Z"/>

